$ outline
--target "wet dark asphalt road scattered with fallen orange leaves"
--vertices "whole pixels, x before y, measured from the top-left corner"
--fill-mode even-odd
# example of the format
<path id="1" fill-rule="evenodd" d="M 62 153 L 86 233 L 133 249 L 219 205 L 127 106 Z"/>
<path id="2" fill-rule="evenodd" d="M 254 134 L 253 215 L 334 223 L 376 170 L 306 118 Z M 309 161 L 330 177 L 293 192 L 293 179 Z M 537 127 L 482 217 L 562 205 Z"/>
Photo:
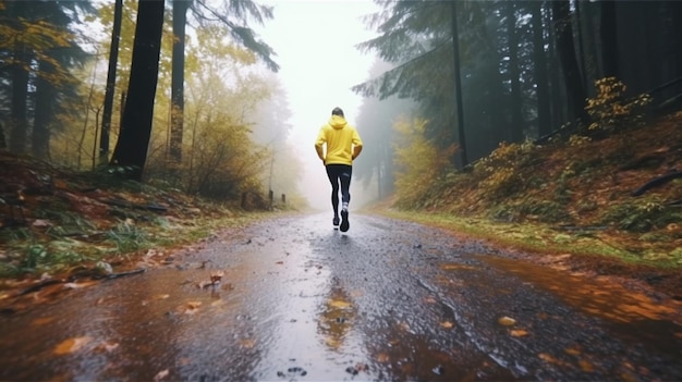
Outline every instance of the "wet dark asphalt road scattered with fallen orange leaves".
<path id="1" fill-rule="evenodd" d="M 0 380 L 682 380 L 680 305 L 499 255 L 368 215 L 219 233 L 1 316 Z"/>

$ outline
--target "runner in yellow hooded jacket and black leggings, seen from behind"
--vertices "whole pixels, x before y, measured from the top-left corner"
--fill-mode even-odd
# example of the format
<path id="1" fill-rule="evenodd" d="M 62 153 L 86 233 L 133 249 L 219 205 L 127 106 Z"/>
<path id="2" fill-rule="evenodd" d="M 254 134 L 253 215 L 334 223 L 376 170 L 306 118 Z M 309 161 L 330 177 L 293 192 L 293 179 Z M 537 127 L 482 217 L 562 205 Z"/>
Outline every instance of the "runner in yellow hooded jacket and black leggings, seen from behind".
<path id="1" fill-rule="evenodd" d="M 327 150 L 322 149 L 327 145 Z M 353 160 L 363 150 L 363 141 L 354 126 L 343 116 L 341 108 L 331 111 L 331 118 L 320 127 L 315 150 L 327 168 L 327 176 L 331 183 L 331 207 L 333 208 L 333 226 L 339 225 L 339 185 L 341 186 L 341 232 L 350 229 L 349 202 L 351 201 L 351 175 Z"/>

